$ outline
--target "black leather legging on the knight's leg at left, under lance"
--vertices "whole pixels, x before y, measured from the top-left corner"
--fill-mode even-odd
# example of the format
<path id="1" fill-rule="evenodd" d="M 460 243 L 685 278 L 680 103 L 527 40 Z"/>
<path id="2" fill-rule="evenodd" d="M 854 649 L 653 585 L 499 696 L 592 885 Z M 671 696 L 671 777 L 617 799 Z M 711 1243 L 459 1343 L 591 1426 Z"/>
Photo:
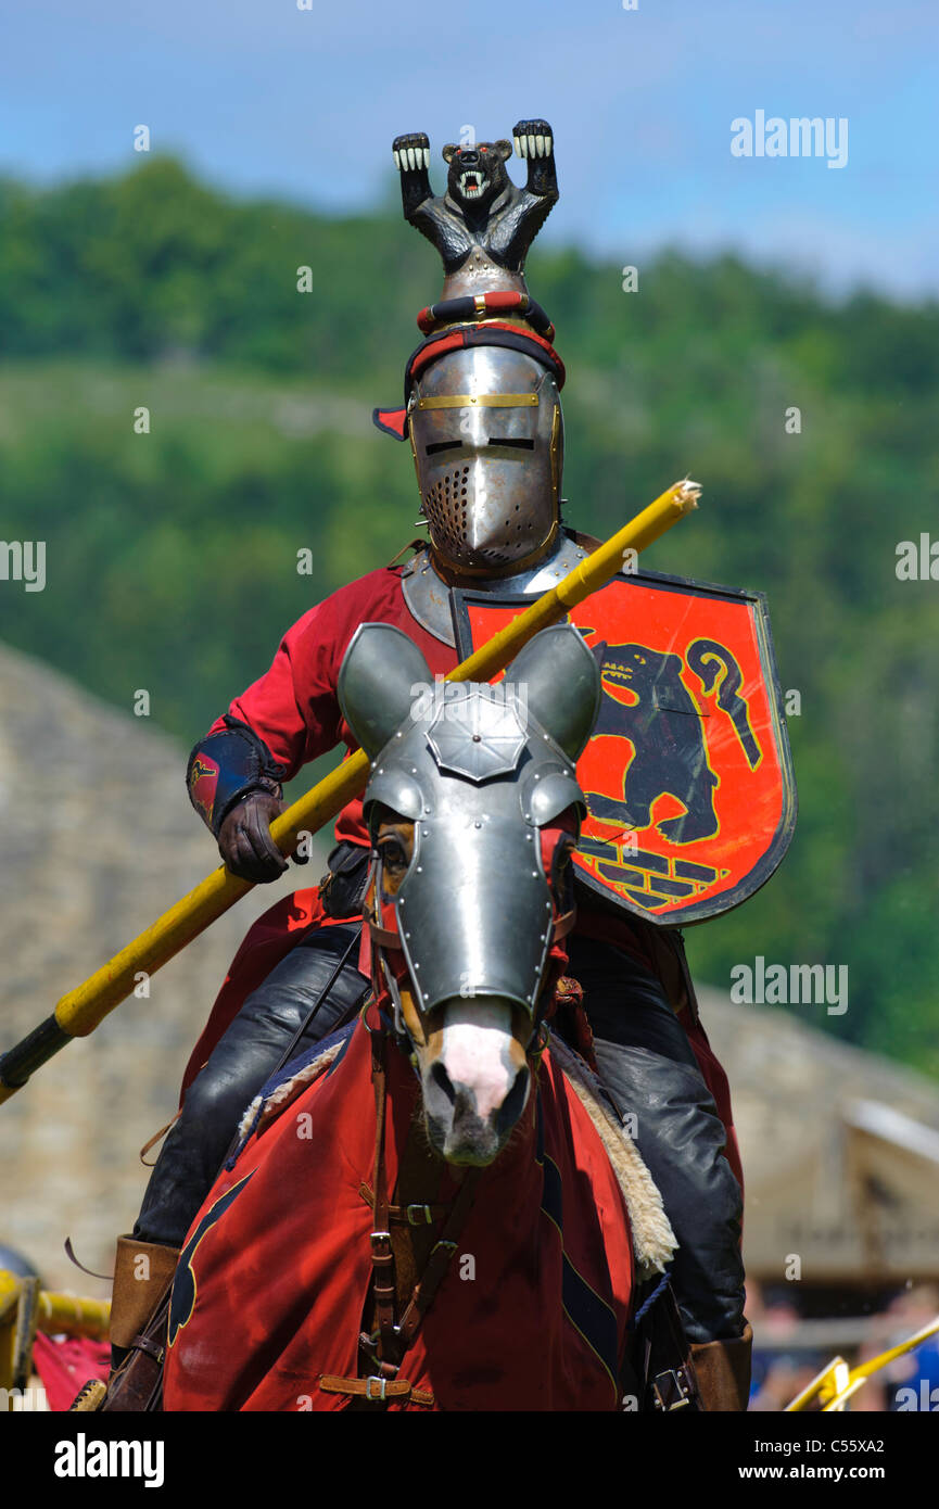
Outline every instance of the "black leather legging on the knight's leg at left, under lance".
<path id="1" fill-rule="evenodd" d="M 205 1068 L 189 1086 L 183 1114 L 169 1132 L 146 1186 L 134 1225 L 136 1237 L 183 1246 L 225 1160 L 242 1114 L 278 1067 L 287 1044 L 358 931 L 356 925 L 306 934 L 248 996 Z M 296 1053 L 328 1037 L 340 1017 L 364 997 L 368 982 L 352 963 L 355 958 L 353 949 L 297 1043 Z"/>

